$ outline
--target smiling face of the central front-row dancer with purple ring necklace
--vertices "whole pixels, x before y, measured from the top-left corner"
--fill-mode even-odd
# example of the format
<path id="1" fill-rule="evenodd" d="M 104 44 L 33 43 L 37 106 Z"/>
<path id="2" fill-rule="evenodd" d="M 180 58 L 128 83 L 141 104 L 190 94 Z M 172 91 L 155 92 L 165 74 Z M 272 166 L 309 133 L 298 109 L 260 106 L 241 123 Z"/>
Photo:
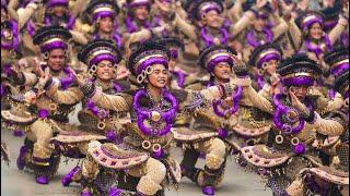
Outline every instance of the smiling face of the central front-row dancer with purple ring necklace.
<path id="1" fill-rule="evenodd" d="M 163 64 L 154 64 L 152 68 L 148 82 L 156 88 L 164 88 L 168 83 L 168 70 Z"/>

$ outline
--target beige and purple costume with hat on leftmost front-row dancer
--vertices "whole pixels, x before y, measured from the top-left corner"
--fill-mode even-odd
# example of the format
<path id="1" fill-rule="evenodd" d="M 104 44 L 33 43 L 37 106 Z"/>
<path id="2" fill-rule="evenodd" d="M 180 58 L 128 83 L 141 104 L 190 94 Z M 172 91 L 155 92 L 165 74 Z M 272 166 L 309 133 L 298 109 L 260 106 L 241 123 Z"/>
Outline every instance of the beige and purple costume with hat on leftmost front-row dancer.
<path id="1" fill-rule="evenodd" d="M 66 41 L 70 36 L 70 33 L 62 27 L 44 27 L 36 33 L 34 44 L 40 45 L 44 60 L 48 60 L 52 50 L 67 50 Z M 54 76 L 48 81 L 42 81 L 33 72 L 18 73 L 16 82 L 20 85 L 32 86 L 32 89 L 24 95 L 13 97 L 20 103 L 10 110 L 1 111 L 1 117 L 26 134 L 25 145 L 21 147 L 18 158 L 19 169 L 33 169 L 37 183 L 47 184 L 59 163 L 59 156 L 52 154 L 54 147 L 49 144 L 55 132 L 52 121 L 67 123 L 68 113 L 80 101 L 81 94 L 69 66 L 54 71 L 48 65 L 43 66 L 43 70 Z"/>

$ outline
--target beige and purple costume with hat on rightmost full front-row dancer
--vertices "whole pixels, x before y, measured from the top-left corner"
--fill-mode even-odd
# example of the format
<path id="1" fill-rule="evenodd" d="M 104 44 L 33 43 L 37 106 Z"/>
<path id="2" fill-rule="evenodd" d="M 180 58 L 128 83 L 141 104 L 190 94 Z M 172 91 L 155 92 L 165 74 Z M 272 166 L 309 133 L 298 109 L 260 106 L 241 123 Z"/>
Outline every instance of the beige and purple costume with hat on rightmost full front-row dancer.
<path id="1" fill-rule="evenodd" d="M 278 73 L 283 86 L 293 88 L 312 86 L 320 70 L 306 56 L 295 54 L 279 64 Z M 317 106 L 307 96 L 304 98 L 307 108 L 300 110 L 300 113 L 291 107 L 291 93 L 275 95 L 272 102 L 259 96 L 250 86 L 244 89 L 244 94 L 254 106 L 273 114 L 273 127 L 267 145 L 244 147 L 241 152 L 249 164 L 259 168 L 261 175 L 267 176 L 267 184 L 273 194 L 283 195 L 302 169 L 322 164 L 312 146 L 315 133 L 340 135 L 343 126 L 338 121 L 322 119 L 315 111 Z"/>

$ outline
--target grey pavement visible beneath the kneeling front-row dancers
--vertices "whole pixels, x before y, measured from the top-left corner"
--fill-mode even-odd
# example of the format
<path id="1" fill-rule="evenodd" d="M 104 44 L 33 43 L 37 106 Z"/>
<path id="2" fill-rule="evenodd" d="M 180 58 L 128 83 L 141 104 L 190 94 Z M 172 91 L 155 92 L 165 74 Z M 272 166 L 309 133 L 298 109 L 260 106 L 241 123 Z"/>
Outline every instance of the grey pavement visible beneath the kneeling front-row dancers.
<path id="1" fill-rule="evenodd" d="M 2 196 L 68 196 L 79 195 L 80 187 L 78 184 L 71 184 L 69 187 L 61 185 L 60 179 L 77 166 L 77 160 L 65 162 L 61 159 L 60 168 L 57 175 L 49 185 L 39 185 L 35 183 L 34 175 L 16 168 L 15 160 L 19 156 L 20 146 L 23 144 L 23 137 L 15 137 L 7 131 L 1 130 L 1 140 L 5 142 L 10 148 L 12 161 L 8 167 L 1 162 L 1 195 Z M 182 159 L 180 149 L 174 149 L 174 158 L 178 161 Z M 198 162 L 198 166 L 203 166 L 203 160 Z M 201 189 L 192 182 L 184 177 L 178 191 L 174 188 L 166 189 L 166 196 L 200 196 Z M 226 171 L 222 186 L 215 192 L 218 196 L 271 196 L 269 188 L 264 187 L 260 177 L 250 171 L 245 171 L 240 167 L 234 157 L 229 157 L 226 161 Z"/>

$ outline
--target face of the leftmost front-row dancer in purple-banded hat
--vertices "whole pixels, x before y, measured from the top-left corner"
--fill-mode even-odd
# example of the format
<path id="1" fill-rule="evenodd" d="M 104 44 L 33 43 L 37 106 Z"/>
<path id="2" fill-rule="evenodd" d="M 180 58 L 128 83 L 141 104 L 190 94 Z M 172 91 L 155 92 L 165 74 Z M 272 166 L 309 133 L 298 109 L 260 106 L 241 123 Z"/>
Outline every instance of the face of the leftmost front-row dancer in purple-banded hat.
<path id="1" fill-rule="evenodd" d="M 58 72 L 61 71 L 66 63 L 66 54 L 62 49 L 54 49 L 49 51 L 47 65 L 51 71 Z"/>

